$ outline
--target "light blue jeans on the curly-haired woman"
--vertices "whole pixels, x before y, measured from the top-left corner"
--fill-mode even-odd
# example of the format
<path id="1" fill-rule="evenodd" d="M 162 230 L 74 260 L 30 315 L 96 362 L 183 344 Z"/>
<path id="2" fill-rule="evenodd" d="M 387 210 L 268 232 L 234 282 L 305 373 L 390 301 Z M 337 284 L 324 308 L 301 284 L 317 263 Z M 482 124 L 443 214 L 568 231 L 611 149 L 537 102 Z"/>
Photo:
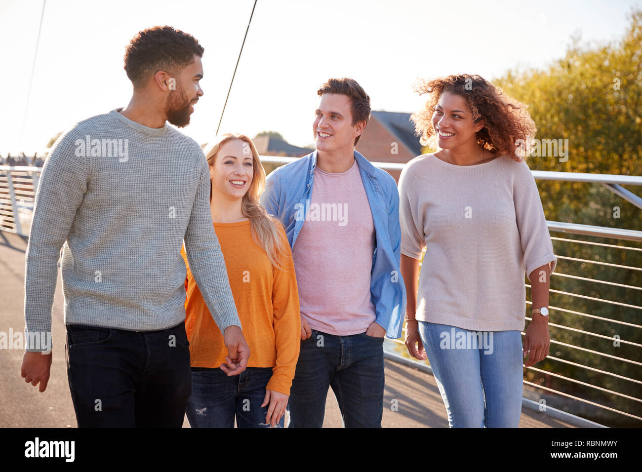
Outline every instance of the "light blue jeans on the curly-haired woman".
<path id="1" fill-rule="evenodd" d="M 420 321 L 419 335 L 451 428 L 517 428 L 523 394 L 519 331 L 469 331 Z"/>

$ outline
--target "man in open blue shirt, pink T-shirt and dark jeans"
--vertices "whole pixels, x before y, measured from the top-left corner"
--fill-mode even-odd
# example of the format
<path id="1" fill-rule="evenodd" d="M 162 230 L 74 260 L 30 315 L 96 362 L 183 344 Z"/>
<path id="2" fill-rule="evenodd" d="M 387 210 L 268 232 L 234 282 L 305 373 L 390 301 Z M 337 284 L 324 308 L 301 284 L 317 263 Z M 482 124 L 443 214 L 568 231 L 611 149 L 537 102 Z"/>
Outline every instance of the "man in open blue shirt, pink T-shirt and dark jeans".
<path id="1" fill-rule="evenodd" d="M 270 173 L 261 195 L 286 229 L 299 285 L 290 427 L 320 428 L 332 387 L 346 427 L 378 428 L 383 339 L 401 336 L 406 304 L 399 194 L 388 173 L 354 150 L 370 118 L 363 88 L 330 79 L 317 94 L 317 150 Z"/>

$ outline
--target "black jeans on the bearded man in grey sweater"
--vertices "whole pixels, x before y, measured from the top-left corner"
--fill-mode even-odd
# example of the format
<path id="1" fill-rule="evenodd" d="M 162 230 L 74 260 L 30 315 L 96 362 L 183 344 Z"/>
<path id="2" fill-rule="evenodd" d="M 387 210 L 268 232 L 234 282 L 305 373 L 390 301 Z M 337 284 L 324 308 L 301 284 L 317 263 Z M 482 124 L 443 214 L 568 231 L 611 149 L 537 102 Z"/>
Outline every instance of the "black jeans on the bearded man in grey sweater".
<path id="1" fill-rule="evenodd" d="M 79 428 L 180 428 L 191 394 L 185 323 L 160 331 L 67 325 Z"/>

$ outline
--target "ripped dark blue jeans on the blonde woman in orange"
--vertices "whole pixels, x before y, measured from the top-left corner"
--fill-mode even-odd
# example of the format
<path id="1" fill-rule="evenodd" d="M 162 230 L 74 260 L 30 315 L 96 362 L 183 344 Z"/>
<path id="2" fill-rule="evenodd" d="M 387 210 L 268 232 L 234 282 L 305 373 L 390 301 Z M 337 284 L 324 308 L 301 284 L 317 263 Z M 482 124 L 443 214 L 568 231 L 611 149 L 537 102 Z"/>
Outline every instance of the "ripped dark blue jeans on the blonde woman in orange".
<path id="1" fill-rule="evenodd" d="M 270 428 L 265 423 L 270 404 L 263 406 L 271 367 L 247 367 L 228 377 L 221 369 L 192 367 L 192 394 L 185 413 L 192 428 Z M 277 425 L 283 428 L 285 415 Z"/>

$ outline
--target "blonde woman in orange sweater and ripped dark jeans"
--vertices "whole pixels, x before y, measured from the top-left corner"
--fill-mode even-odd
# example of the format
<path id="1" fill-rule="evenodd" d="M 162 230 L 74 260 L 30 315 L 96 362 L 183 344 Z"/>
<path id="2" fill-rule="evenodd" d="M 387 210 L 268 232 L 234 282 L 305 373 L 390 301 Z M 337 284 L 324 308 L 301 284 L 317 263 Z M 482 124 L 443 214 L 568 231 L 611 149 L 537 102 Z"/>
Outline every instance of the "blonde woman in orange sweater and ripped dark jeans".
<path id="1" fill-rule="evenodd" d="M 259 204 L 265 170 L 247 136 L 224 134 L 205 148 L 214 231 L 250 346 L 247 369 L 229 376 L 220 330 L 187 268 L 186 331 L 192 367 L 187 401 L 195 427 L 283 427 L 299 357 L 297 281 L 285 231 Z M 187 258 L 184 250 L 183 257 Z"/>

